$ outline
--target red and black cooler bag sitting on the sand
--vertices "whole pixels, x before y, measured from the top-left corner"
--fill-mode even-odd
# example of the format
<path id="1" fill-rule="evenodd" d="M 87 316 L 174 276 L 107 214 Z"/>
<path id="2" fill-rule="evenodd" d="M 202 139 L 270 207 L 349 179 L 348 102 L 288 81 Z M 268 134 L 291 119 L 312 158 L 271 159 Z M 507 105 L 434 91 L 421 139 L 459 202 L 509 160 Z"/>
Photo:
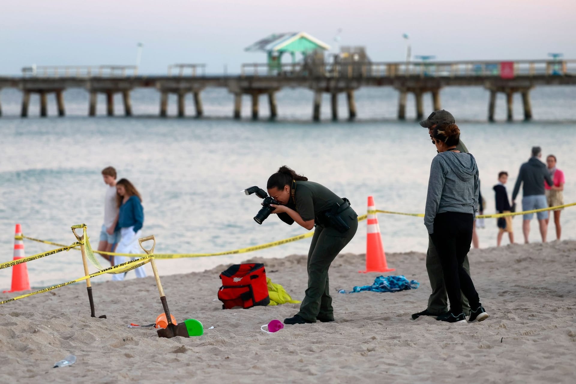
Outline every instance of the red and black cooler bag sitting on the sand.
<path id="1" fill-rule="evenodd" d="M 264 264 L 234 264 L 220 273 L 220 279 L 218 299 L 223 303 L 222 309 L 236 306 L 247 309 L 270 303 Z"/>

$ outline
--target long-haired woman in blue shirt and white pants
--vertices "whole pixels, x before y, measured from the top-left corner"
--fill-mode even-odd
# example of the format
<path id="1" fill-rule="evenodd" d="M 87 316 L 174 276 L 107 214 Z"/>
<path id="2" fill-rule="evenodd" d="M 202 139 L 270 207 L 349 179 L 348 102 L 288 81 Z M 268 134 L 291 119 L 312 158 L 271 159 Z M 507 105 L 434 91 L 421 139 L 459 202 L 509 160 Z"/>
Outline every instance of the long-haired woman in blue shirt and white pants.
<path id="1" fill-rule="evenodd" d="M 142 225 L 144 223 L 144 210 L 142 197 L 134 185 L 126 178 L 116 183 L 118 199 L 118 224 L 116 230 L 120 230 L 120 242 L 116 246 L 116 253 L 140 253 L 138 238 L 142 237 Z M 134 260 L 134 257 L 131 258 Z M 126 256 L 115 256 L 114 265 L 128 261 Z M 136 277 L 146 277 L 144 267 L 134 269 Z M 125 273 L 112 275 L 112 280 L 124 280 Z"/>

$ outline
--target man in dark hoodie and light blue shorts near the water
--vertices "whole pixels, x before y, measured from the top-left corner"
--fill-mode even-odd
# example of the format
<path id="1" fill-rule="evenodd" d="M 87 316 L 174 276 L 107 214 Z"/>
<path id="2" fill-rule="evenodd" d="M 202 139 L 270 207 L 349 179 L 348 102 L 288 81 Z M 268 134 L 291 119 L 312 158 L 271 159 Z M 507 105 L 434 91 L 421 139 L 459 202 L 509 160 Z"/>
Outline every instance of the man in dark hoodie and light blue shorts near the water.
<path id="1" fill-rule="evenodd" d="M 554 182 L 550 177 L 546 165 L 540 161 L 541 157 L 542 149 L 540 147 L 532 147 L 532 157 L 522 164 L 520 172 L 518 172 L 518 178 L 514 185 L 514 191 L 512 192 L 512 205 L 514 205 L 514 200 L 516 200 L 516 196 L 518 196 L 518 192 L 520 192 L 520 185 L 524 183 L 524 188 L 522 188 L 522 211 L 548 208 L 548 201 L 546 200 L 544 192 L 544 181 L 546 181 L 550 187 L 554 185 Z M 533 213 L 524 215 L 522 232 L 524 233 L 525 244 L 528 244 L 530 220 L 532 220 L 533 216 Z M 538 225 L 540 226 L 542 242 L 546 242 L 546 234 L 548 232 L 546 219 L 548 219 L 548 211 L 537 212 L 536 217 L 538 219 Z"/>

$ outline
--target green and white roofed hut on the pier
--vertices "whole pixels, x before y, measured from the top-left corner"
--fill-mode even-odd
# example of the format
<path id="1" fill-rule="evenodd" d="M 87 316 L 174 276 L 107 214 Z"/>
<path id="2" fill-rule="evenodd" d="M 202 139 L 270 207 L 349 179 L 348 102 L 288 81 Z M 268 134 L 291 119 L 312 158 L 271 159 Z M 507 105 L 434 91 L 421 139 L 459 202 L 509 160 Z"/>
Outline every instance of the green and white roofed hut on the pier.
<path id="1" fill-rule="evenodd" d="M 330 46 L 308 35 L 306 32 L 272 33 L 264 39 L 256 41 L 245 49 L 247 52 L 266 52 L 268 68 L 279 70 L 282 67 L 282 55 L 290 53 L 292 63 L 296 62 L 296 54 L 300 52 L 304 59 L 312 52 L 328 51 Z"/>

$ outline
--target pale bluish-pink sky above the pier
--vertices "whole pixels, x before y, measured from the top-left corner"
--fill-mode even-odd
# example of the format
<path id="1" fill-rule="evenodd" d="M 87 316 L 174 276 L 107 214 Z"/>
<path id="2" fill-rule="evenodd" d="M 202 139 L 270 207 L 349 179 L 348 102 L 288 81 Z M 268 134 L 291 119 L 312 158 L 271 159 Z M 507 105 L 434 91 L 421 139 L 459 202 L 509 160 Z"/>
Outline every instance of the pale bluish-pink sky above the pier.
<path id="1" fill-rule="evenodd" d="M 2 0 L 0 75 L 22 66 L 205 63 L 209 73 L 264 63 L 244 48 L 274 32 L 305 31 L 334 47 L 363 45 L 373 61 L 576 59 L 575 0 Z"/>

